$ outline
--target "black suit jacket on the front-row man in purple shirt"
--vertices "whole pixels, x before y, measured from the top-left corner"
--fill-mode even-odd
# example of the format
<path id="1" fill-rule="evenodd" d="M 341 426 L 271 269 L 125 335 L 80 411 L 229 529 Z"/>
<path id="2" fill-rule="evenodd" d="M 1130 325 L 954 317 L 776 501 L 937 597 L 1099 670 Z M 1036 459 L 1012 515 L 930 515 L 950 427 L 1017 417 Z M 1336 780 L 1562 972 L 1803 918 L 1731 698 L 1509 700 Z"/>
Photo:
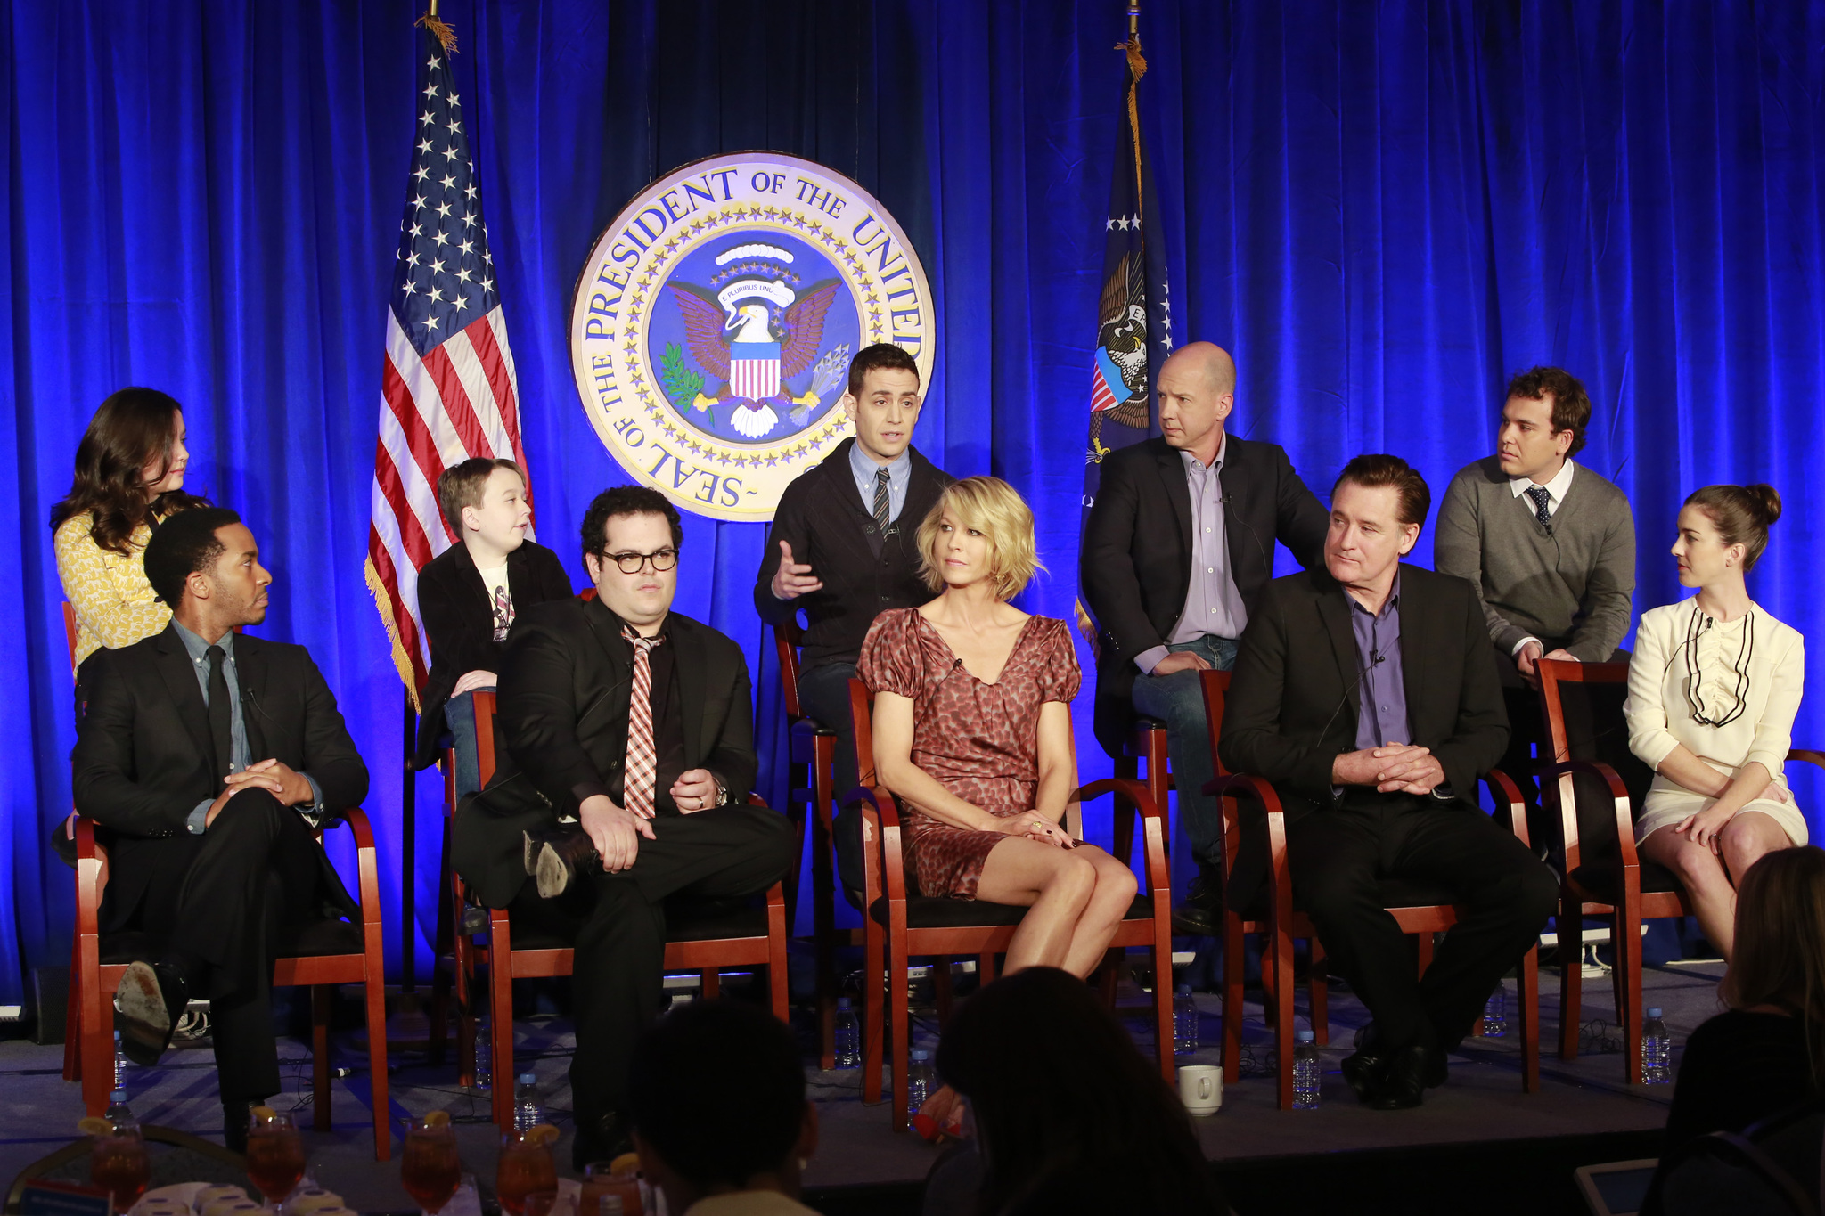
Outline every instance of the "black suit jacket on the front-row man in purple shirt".
<path id="1" fill-rule="evenodd" d="M 1356 751 L 1361 662 L 1347 594 L 1323 569 L 1276 578 L 1230 676 L 1223 766 L 1272 782 L 1288 822 L 1332 806 L 1330 764 Z M 1438 757 L 1451 788 L 1440 800 L 1480 813 L 1476 782 L 1507 747 L 1507 711 L 1476 589 L 1403 563 L 1400 664 L 1413 742 Z M 1246 908 L 1265 873 L 1267 833 L 1254 815 L 1243 824 L 1230 906 Z"/>

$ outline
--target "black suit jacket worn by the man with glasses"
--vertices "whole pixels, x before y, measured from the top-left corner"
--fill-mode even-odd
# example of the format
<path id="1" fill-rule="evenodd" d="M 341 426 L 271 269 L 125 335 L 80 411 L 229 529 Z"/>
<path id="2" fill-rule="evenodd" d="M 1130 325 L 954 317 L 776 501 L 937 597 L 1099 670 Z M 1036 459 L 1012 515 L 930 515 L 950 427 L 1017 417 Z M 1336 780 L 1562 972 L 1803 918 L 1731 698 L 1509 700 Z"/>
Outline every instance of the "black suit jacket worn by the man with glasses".
<path id="1" fill-rule="evenodd" d="M 500 671 L 500 766 L 456 808 L 451 860 L 489 908 L 526 884 L 522 833 L 577 815 L 580 791 L 606 791 L 628 755 L 633 664 L 622 622 L 600 600 L 555 600 L 520 613 Z M 684 726 L 684 768 L 715 773 L 730 802 L 754 789 L 748 660 L 704 623 L 672 613 L 668 645 Z M 655 799 L 666 813 L 664 791 Z M 672 811 L 675 813 L 675 809 Z"/>

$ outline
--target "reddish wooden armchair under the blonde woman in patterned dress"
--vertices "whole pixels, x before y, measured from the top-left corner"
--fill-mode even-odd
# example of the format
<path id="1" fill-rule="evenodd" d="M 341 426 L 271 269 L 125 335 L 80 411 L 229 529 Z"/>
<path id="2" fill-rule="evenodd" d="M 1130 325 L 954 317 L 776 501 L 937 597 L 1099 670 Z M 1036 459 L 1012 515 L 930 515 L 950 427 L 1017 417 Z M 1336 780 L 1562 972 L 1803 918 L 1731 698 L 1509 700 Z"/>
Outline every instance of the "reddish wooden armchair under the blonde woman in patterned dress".
<path id="1" fill-rule="evenodd" d="M 912 1046 L 907 1010 L 907 968 L 914 955 L 978 955 L 978 979 L 995 979 L 995 955 L 1007 950 L 1026 908 L 993 904 L 982 899 L 944 899 L 907 891 L 905 857 L 900 840 L 900 808 L 876 782 L 874 731 L 869 687 L 849 682 L 850 709 L 856 715 L 856 757 L 861 784 L 847 797 L 860 802 L 861 857 L 867 895 L 863 924 L 863 1061 L 861 1099 L 881 1099 L 883 1021 L 892 1032 L 892 1103 L 896 1132 L 907 1127 L 907 1059 Z M 1146 882 L 1135 895 L 1128 917 L 1110 941 L 1111 950 L 1144 946 L 1153 963 L 1153 1056 L 1159 1072 L 1172 1081 L 1172 884 L 1166 877 L 1166 819 L 1141 782 L 1110 778 L 1082 786 L 1071 795 L 1068 828 L 1082 835 L 1079 806 L 1113 793 L 1139 809 Z M 1128 860 L 1126 857 L 1122 860 Z M 885 977 L 885 984 L 881 983 Z M 885 1008 L 883 1008 L 885 1003 Z"/>

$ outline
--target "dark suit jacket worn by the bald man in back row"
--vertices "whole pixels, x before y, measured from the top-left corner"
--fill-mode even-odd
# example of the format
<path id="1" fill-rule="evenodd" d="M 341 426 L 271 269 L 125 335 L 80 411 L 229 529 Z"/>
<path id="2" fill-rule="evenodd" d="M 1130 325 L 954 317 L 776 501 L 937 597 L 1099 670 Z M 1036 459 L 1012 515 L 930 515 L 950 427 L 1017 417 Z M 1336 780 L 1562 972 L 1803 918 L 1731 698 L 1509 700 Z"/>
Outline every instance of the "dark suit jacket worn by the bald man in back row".
<path id="1" fill-rule="evenodd" d="M 1299 565 L 1323 567 L 1330 512 L 1274 443 L 1226 436 L 1219 479 L 1230 576 L 1252 618 L 1274 578 L 1274 541 Z M 1133 722 L 1135 654 L 1166 645 L 1192 587 L 1192 489 L 1184 458 L 1164 439 L 1102 459 L 1079 582 L 1099 631 L 1097 740 L 1119 757 Z"/>

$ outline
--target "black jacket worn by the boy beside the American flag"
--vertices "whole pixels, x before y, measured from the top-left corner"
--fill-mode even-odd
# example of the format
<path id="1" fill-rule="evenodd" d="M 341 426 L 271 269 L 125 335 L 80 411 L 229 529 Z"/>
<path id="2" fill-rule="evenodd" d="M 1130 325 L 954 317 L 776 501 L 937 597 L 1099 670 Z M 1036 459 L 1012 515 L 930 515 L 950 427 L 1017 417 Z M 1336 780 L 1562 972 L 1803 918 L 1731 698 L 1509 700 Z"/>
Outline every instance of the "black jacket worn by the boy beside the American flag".
<path id="1" fill-rule="evenodd" d="M 569 600 L 569 574 L 555 552 L 524 541 L 507 554 L 507 594 L 513 596 L 518 620 L 535 603 Z M 471 671 L 500 675 L 502 644 L 495 642 L 495 605 L 467 545 L 451 545 L 418 572 L 418 613 L 431 644 L 431 678 L 425 682 L 425 709 L 418 718 L 418 755 L 412 764 L 425 769 L 438 762 L 443 702 L 456 680 Z"/>

